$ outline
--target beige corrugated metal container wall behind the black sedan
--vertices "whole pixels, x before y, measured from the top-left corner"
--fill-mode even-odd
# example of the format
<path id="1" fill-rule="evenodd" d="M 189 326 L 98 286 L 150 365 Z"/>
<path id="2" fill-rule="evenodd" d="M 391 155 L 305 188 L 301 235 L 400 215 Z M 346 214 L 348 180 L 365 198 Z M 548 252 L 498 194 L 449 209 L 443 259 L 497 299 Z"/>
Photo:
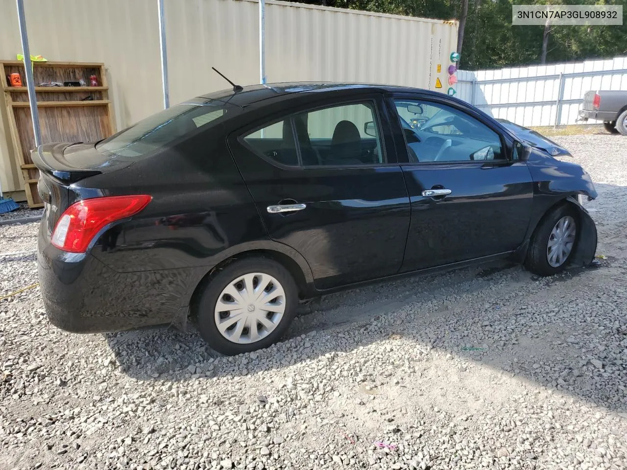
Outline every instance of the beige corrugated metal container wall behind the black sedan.
<path id="1" fill-rule="evenodd" d="M 161 108 L 157 0 L 24 0 L 24 8 L 31 54 L 105 63 L 118 128 Z M 166 0 L 165 16 L 171 103 L 228 88 L 211 66 L 241 85 L 259 83 L 257 1 Z M 434 88 L 441 63 L 446 91 L 456 41 L 456 22 L 266 2 L 268 83 Z M 20 52 L 15 1 L 0 0 L 0 60 Z M 0 118 L 0 177 L 12 190 L 21 185 L 14 165 L 8 168 L 5 110 Z"/>

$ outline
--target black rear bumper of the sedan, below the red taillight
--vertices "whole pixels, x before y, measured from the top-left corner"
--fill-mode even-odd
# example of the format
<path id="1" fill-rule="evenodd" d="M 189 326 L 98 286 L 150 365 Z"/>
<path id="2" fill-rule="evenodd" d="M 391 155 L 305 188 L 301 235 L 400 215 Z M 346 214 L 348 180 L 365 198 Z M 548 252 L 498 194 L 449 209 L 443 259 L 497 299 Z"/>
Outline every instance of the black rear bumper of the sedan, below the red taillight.
<path id="1" fill-rule="evenodd" d="M 38 271 L 50 323 L 73 333 L 102 333 L 186 319 L 197 269 L 118 273 L 91 254 L 48 243 L 45 224 L 42 219 Z"/>

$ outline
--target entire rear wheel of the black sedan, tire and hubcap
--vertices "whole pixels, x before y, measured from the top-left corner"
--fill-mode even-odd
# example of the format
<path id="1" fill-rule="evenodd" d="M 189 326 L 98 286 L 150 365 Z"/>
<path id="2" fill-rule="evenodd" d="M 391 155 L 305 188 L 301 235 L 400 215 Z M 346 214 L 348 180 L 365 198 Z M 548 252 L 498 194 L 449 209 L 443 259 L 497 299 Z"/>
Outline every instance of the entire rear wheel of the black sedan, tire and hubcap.
<path id="1" fill-rule="evenodd" d="M 260 283 L 269 289 L 270 295 L 255 300 L 262 295 L 262 290 L 258 290 Z M 249 285 L 253 288 L 248 288 Z M 218 301 L 224 310 L 219 310 Z M 201 336 L 211 348 L 236 355 L 266 348 L 280 340 L 292 322 L 297 305 L 296 283 L 282 264 L 269 258 L 241 259 L 218 271 L 205 285 L 197 304 L 196 320 Z M 273 307 L 272 311 L 264 310 L 264 306 Z M 221 328 L 219 323 L 223 324 Z"/>

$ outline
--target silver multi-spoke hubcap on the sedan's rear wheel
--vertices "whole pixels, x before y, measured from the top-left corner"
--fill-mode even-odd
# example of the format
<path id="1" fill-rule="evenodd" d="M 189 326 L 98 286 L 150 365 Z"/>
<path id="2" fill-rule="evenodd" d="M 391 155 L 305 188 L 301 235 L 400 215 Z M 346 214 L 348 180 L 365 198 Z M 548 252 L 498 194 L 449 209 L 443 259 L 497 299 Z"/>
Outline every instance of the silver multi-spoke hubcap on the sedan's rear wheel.
<path id="1" fill-rule="evenodd" d="M 216 303 L 215 321 L 233 343 L 255 343 L 277 328 L 285 313 L 285 291 L 269 274 L 240 276 L 224 288 Z"/>

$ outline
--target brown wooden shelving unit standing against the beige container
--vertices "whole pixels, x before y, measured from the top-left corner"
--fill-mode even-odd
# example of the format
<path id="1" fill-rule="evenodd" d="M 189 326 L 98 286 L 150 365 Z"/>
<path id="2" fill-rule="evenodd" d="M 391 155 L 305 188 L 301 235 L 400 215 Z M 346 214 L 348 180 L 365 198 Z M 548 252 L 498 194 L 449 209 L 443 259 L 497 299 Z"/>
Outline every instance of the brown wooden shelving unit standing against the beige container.
<path id="1" fill-rule="evenodd" d="M 26 199 L 30 207 L 41 207 L 43 201 L 37 192 L 39 170 L 30 156 L 35 145 L 28 89 L 26 86 L 9 86 L 7 77 L 11 73 L 19 73 L 22 83 L 26 83 L 22 62 L 0 61 L 11 140 L 24 177 Z M 99 86 L 39 86 L 53 81 L 83 80 L 90 83 L 91 75 L 97 76 Z M 92 142 L 115 132 L 103 63 L 33 62 L 33 78 L 42 142 Z"/>

